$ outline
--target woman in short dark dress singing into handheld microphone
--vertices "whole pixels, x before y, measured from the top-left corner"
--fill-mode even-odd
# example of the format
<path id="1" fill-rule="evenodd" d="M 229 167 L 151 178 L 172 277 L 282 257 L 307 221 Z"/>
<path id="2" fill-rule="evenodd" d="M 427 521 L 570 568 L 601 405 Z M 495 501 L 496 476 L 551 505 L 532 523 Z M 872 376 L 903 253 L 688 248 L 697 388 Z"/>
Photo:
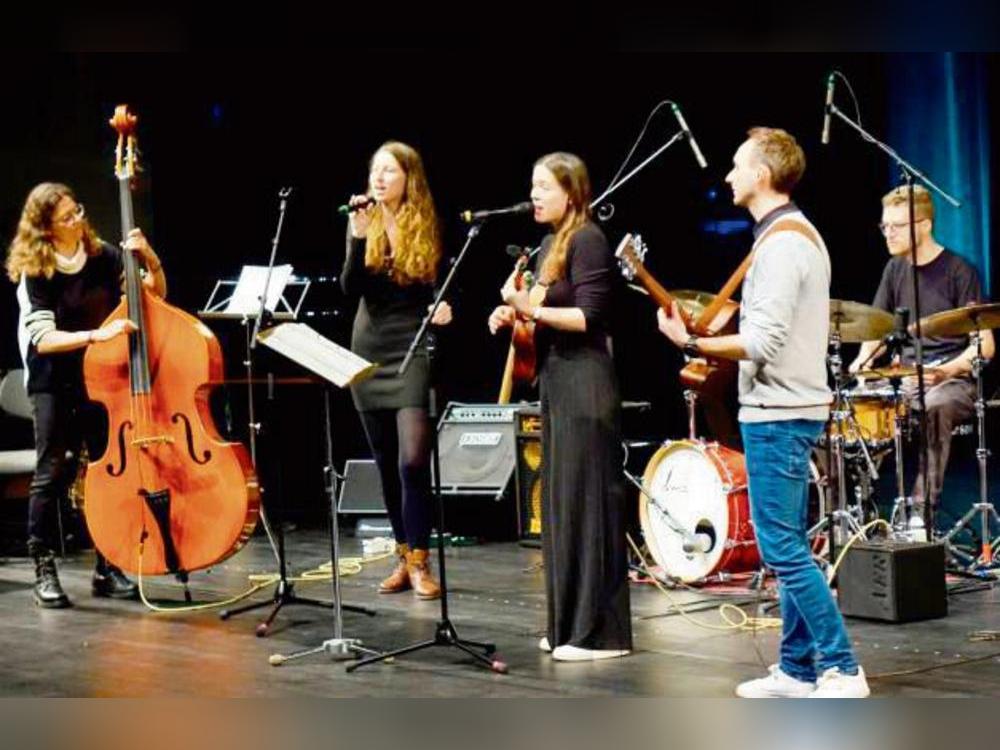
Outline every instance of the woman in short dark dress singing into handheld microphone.
<path id="1" fill-rule="evenodd" d="M 441 238 L 423 161 L 411 146 L 383 144 L 372 156 L 368 195 L 351 205 L 341 286 L 360 297 L 351 349 L 380 367 L 352 388 L 354 404 L 382 478 L 398 563 L 379 593 L 413 589 L 436 599 L 428 550 L 431 531 L 430 446 L 427 418 L 430 363 L 426 347 L 397 374 L 434 298 Z M 451 321 L 442 304 L 432 323 Z"/>

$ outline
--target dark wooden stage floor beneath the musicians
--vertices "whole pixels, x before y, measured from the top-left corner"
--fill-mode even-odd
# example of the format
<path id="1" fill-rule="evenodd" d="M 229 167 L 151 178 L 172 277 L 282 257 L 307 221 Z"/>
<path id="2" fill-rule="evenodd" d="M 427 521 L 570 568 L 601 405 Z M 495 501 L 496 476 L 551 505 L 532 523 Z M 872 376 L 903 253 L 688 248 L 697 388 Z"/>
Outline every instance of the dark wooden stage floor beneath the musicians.
<path id="1" fill-rule="evenodd" d="M 329 546 L 321 530 L 287 536 L 295 573 L 318 566 Z M 359 543 L 345 538 L 344 555 Z M 5 696 L 731 696 L 737 682 L 759 675 L 775 661 L 774 630 L 706 630 L 670 614 L 671 602 L 649 584 L 632 585 L 635 652 L 598 663 L 553 662 L 537 650 L 544 622 L 544 591 L 538 550 L 514 543 L 457 547 L 448 551 L 452 586 L 450 614 L 459 634 L 492 641 L 509 674 L 495 674 L 457 649 L 433 648 L 393 664 L 345 672 L 325 654 L 271 666 L 272 654 L 288 654 L 332 637 L 328 610 L 290 606 L 271 634 L 255 635 L 261 612 L 221 621 L 217 611 L 160 614 L 138 602 L 90 596 L 93 558 L 80 554 L 62 562 L 62 580 L 75 607 L 42 610 L 31 599 L 33 572 L 27 560 L 0 564 L 3 653 L 0 694 Z M 273 553 L 263 536 L 225 564 L 192 576 L 196 599 L 233 595 L 248 575 L 270 572 Z M 375 648 L 430 638 L 437 602 L 411 593 L 380 596 L 378 580 L 388 561 L 365 565 L 343 579 L 348 604 L 375 610 L 347 612 L 346 636 Z M 158 599 L 180 596 L 172 579 L 150 582 Z M 257 597 L 270 596 L 272 588 Z M 329 583 L 298 587 L 303 596 L 329 598 Z M 675 601 L 708 606 L 707 592 L 676 591 Z M 752 600 L 737 587 L 721 601 Z M 1000 629 L 997 589 L 952 595 L 942 620 L 888 625 L 849 620 L 851 638 L 876 696 L 1000 695 L 1000 641 L 973 642 L 972 631 Z M 756 612 L 756 605 L 748 609 Z M 692 617 L 719 625 L 716 610 Z M 983 658 L 987 657 L 987 658 Z M 973 663 L 959 664 L 976 659 Z M 918 674 L 879 678 L 890 672 L 941 667 Z"/>

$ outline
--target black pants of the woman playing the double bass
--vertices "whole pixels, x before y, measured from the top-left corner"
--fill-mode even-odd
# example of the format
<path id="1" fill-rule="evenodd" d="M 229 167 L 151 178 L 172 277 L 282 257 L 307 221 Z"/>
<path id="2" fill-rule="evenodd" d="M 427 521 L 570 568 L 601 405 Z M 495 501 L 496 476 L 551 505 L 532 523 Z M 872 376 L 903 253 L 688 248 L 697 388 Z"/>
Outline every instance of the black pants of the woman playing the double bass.
<path id="1" fill-rule="evenodd" d="M 107 416 L 82 396 L 71 392 L 35 393 L 35 452 L 38 464 L 28 500 L 28 546 L 58 546 L 60 499 L 76 478 L 83 445 L 91 456 L 103 452 Z"/>

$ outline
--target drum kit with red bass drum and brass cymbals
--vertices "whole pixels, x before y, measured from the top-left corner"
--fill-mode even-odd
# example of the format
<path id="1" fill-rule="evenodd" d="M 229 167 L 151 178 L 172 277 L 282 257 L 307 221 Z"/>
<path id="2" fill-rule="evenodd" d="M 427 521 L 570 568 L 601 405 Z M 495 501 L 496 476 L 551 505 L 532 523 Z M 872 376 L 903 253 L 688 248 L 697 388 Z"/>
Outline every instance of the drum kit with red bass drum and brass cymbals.
<path id="1" fill-rule="evenodd" d="M 697 315 L 712 295 L 705 292 L 673 293 L 682 306 Z M 1000 327 L 1000 304 L 975 305 L 928 316 L 921 320 L 924 337 L 958 336 Z M 912 326 L 911 326 L 912 329 Z M 902 338 L 894 333 L 891 314 L 858 302 L 830 301 L 828 365 L 833 374 L 833 404 L 819 450 L 811 462 L 809 529 L 813 554 L 821 564 L 829 561 L 838 545 L 863 533 L 866 505 L 874 507 L 872 482 L 882 461 L 895 455 L 895 489 L 890 524 L 893 535 L 921 541 L 922 524 L 910 518 L 912 499 L 904 487 L 904 439 L 911 433 L 910 396 L 904 379 L 916 375 L 912 367 L 894 365 L 847 374 L 841 345 L 883 341 L 891 349 Z M 1000 556 L 1000 537 L 991 537 L 991 520 L 1000 515 L 987 499 L 985 412 L 981 337 L 973 360 L 976 382 L 976 433 L 979 463 L 979 501 L 941 537 L 951 560 L 969 570 L 987 567 Z M 856 381 L 856 385 L 848 385 Z M 641 482 L 629 478 L 640 490 L 639 516 L 647 547 L 669 579 L 687 584 L 725 581 L 741 573 L 759 573 L 761 560 L 750 519 L 747 475 L 743 455 L 715 442 L 695 437 L 695 398 L 686 393 L 692 427 L 687 439 L 668 440 L 646 466 Z M 848 480 L 854 487 L 848 498 Z M 877 512 L 877 510 L 876 510 Z M 979 519 L 982 539 L 979 554 L 954 544 L 956 535 Z M 828 555 L 828 553 L 830 553 Z M 832 561 L 831 561 L 832 562 Z M 757 579 L 759 580 L 759 578 Z"/>

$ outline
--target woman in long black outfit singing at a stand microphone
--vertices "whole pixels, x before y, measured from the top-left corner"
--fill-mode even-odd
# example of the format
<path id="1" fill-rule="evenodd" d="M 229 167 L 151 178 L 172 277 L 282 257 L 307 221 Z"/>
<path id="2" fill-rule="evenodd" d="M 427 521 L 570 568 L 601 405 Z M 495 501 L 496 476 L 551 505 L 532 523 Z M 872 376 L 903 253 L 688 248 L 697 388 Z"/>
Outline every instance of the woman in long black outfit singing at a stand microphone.
<path id="1" fill-rule="evenodd" d="M 535 221 L 548 224 L 539 255 L 542 305 L 501 290 L 493 333 L 516 315 L 536 321 L 542 399 L 542 553 L 547 635 L 539 647 L 560 661 L 605 659 L 632 648 L 621 403 L 611 359 L 615 264 L 590 219 L 590 179 L 573 154 L 535 163 Z"/>

